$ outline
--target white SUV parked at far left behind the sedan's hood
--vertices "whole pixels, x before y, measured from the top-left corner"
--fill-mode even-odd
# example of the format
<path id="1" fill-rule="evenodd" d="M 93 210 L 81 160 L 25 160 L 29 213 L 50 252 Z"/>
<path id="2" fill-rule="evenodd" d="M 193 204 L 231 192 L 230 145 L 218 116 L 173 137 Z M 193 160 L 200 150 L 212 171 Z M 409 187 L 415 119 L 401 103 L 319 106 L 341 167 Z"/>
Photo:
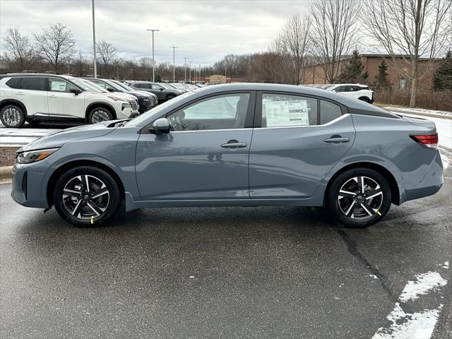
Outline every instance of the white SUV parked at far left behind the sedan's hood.
<path id="1" fill-rule="evenodd" d="M 132 95 L 107 93 L 71 76 L 18 73 L 0 76 L 0 120 L 18 128 L 25 121 L 96 122 L 138 114 Z"/>

